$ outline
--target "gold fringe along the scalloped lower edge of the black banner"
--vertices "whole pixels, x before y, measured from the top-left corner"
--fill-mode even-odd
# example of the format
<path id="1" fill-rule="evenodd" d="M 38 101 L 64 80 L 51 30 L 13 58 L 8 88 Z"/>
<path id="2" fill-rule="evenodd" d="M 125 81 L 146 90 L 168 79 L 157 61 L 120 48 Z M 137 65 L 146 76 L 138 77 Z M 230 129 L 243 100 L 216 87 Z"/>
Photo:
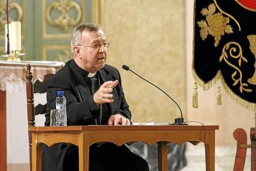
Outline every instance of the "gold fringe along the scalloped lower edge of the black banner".
<path id="1" fill-rule="evenodd" d="M 195 73 L 194 69 L 192 69 L 192 75 L 193 75 L 196 83 L 200 87 L 202 87 L 202 89 L 204 91 L 209 90 L 214 84 L 216 84 L 216 82 L 218 80 L 220 80 L 220 82 L 222 83 L 223 89 L 228 94 L 228 96 L 231 97 L 231 99 L 233 99 L 235 102 L 237 102 L 237 104 L 241 105 L 242 107 L 247 108 L 248 110 L 254 111 L 256 113 L 256 104 L 248 102 L 248 101 L 240 98 L 239 96 L 235 95 L 232 92 L 232 90 L 228 87 L 228 85 L 226 84 L 226 82 L 222 76 L 222 73 L 220 71 L 218 71 L 216 76 L 213 79 L 211 79 L 211 81 L 209 81 L 207 83 L 202 81 L 202 79 L 199 78 L 199 76 Z"/>

